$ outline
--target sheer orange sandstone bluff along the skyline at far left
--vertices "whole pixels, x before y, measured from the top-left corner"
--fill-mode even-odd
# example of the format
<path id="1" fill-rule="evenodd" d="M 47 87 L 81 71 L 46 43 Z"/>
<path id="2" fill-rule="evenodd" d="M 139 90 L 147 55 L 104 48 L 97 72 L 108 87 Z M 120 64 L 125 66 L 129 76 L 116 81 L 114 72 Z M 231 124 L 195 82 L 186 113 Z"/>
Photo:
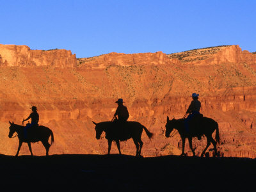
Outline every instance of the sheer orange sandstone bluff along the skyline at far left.
<path id="1" fill-rule="evenodd" d="M 1 45 L 0 66 L 34 67 L 76 67 L 76 55 L 64 49 L 51 51 L 31 50 L 26 45 Z"/>

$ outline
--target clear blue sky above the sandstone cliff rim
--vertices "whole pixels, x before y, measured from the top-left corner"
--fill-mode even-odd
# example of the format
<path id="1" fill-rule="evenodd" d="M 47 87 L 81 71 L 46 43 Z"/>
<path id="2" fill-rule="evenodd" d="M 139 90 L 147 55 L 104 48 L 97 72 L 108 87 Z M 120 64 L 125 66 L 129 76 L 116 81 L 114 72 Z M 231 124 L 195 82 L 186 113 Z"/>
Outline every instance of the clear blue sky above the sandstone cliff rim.
<path id="1" fill-rule="evenodd" d="M 0 0 L 0 44 L 109 52 L 173 53 L 239 45 L 256 51 L 256 1 Z"/>

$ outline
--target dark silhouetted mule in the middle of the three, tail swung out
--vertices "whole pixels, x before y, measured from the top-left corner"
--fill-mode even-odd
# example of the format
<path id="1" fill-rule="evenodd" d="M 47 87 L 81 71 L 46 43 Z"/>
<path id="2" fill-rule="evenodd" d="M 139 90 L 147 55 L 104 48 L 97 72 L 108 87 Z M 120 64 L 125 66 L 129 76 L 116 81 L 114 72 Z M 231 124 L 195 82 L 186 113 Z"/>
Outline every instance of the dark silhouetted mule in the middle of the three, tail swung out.
<path id="1" fill-rule="evenodd" d="M 125 122 L 126 130 L 122 133 L 123 136 L 120 136 L 120 134 L 118 134 L 118 131 L 122 130 L 122 127 L 120 127 L 120 129 L 116 129 L 115 122 L 100 122 L 98 124 L 93 122 L 93 124 L 96 125 L 95 131 L 97 140 L 100 139 L 103 131 L 106 132 L 106 139 L 108 140 L 108 154 L 111 150 L 112 141 L 116 142 L 119 154 L 121 154 L 119 141 L 129 140 L 132 138 L 136 146 L 136 157 L 141 156 L 141 148 L 143 145 L 143 142 L 141 141 L 141 134 L 143 132 L 143 129 L 145 130 L 148 138 L 152 138 L 153 136 L 153 134 L 149 132 L 148 129 L 144 125 L 141 125 L 139 122 Z"/>

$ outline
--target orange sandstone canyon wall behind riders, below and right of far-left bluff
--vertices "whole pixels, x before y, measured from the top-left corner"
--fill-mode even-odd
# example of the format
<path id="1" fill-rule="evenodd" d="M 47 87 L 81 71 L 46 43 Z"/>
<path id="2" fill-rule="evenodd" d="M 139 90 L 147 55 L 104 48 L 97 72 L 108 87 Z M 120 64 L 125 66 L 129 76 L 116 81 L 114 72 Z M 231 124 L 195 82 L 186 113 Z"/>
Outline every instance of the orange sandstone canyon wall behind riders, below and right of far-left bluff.
<path id="1" fill-rule="evenodd" d="M 225 58 L 224 52 L 230 53 L 230 47 L 236 48 L 236 45 L 212 48 L 215 52 L 207 51 L 205 55 L 204 52 L 186 52 L 183 60 L 181 57 L 170 59 L 170 55 L 161 52 L 111 53 L 79 59 L 78 67 L 58 68 L 51 63 L 36 64 L 33 68 L 1 67 L 0 137 L 3 142 L 0 152 L 15 154 L 18 141 L 8 138 L 8 121 L 21 124 L 22 119 L 28 117 L 29 108 L 35 105 L 40 124 L 54 132 L 56 141 L 50 154 L 106 154 L 108 143 L 106 139 L 95 139 L 92 120 L 111 120 L 116 109 L 115 100 L 122 97 L 131 115 L 129 120 L 141 122 L 154 132 L 151 141 L 143 133 L 143 156 L 179 155 L 179 134 L 173 138 L 164 136 L 166 117 L 182 118 L 191 102 L 191 93 L 196 92 L 200 94 L 204 116 L 213 118 L 220 126 L 218 150 L 221 154 L 255 158 L 254 55 L 246 53 L 245 57 L 244 51 L 237 51 L 234 55 L 241 58 L 239 60 L 230 56 L 227 60 L 220 59 Z M 200 59 L 194 55 L 200 55 Z M 214 56 L 219 58 L 214 59 Z M 216 63 L 209 65 L 210 59 Z M 206 139 L 193 140 L 193 143 L 196 153 L 200 153 Z M 33 144 L 32 148 L 35 155 L 45 155 L 41 143 Z M 121 148 L 124 154 L 134 155 L 136 151 L 130 140 L 122 142 Z M 113 145 L 111 153 L 117 152 Z M 188 143 L 186 152 L 191 156 Z M 209 152 L 212 156 L 212 150 Z M 26 145 L 20 154 L 29 154 Z"/>

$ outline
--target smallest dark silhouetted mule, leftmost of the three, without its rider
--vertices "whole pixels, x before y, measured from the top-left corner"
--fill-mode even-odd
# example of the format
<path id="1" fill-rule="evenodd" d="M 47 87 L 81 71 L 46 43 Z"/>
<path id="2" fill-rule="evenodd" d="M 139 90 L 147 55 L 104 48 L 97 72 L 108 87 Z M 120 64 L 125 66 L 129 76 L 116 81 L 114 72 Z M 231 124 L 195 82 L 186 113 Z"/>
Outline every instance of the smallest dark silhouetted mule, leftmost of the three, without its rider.
<path id="1" fill-rule="evenodd" d="M 38 126 L 38 127 L 35 127 L 35 129 L 33 129 L 34 127 L 29 127 L 29 129 L 27 130 L 27 138 L 25 138 L 24 126 L 14 124 L 13 122 L 12 123 L 9 122 L 9 123 L 10 123 L 10 127 L 9 127 L 10 131 L 8 135 L 9 138 L 12 138 L 15 132 L 17 132 L 18 138 L 19 138 L 19 147 L 17 150 L 17 154 L 15 156 L 18 156 L 20 147 L 23 142 L 28 143 L 29 151 L 31 153 L 31 156 L 33 156 L 31 143 L 35 143 L 38 141 L 41 141 L 43 143 L 46 150 L 46 156 L 49 155 L 49 148 L 51 147 L 54 141 L 53 132 L 51 131 L 51 129 L 45 126 Z M 51 136 L 51 145 L 48 142 L 50 136 Z"/>

